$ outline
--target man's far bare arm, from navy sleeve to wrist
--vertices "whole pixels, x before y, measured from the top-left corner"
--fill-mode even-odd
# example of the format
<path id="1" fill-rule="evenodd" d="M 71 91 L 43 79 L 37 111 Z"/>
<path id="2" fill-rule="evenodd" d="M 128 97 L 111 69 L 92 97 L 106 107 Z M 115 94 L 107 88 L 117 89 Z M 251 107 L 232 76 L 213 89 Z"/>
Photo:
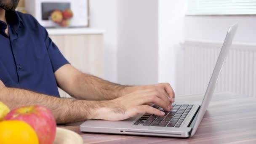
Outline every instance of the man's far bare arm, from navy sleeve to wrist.
<path id="1" fill-rule="evenodd" d="M 111 83 L 93 75 L 84 74 L 70 64 L 55 73 L 58 86 L 76 99 L 110 100 L 123 96 L 128 86 Z"/>

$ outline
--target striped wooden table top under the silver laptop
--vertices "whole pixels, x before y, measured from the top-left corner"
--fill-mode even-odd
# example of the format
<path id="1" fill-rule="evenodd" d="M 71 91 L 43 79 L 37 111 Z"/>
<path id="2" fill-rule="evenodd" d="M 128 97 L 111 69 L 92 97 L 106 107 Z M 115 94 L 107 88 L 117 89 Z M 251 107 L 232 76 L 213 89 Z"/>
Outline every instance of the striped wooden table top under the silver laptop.
<path id="1" fill-rule="evenodd" d="M 176 101 L 201 101 L 203 95 L 176 96 Z M 216 93 L 195 136 L 188 139 L 82 133 L 79 125 L 61 125 L 79 133 L 84 144 L 256 144 L 256 98 Z"/>

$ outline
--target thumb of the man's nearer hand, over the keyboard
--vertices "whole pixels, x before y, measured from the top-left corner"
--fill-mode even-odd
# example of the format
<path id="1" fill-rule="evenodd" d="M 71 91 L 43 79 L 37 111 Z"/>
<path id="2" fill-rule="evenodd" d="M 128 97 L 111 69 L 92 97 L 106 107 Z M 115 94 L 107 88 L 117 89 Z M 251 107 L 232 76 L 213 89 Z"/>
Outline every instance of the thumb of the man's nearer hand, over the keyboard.
<path id="1" fill-rule="evenodd" d="M 140 114 L 149 113 L 149 114 L 154 114 L 154 115 L 158 115 L 158 116 L 165 115 L 165 113 L 160 111 L 159 109 L 155 109 L 148 105 L 138 106 L 138 107 L 136 107 L 136 109 L 137 109 L 137 113 L 140 113 Z"/>

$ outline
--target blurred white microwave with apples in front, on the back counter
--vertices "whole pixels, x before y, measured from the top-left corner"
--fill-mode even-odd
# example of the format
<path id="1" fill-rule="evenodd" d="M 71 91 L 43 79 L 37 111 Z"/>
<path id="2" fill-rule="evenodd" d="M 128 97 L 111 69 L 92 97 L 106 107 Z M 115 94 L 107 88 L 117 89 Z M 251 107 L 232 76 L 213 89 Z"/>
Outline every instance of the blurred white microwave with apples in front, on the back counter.
<path id="1" fill-rule="evenodd" d="M 89 0 L 25 0 L 24 6 L 46 28 L 90 25 Z"/>

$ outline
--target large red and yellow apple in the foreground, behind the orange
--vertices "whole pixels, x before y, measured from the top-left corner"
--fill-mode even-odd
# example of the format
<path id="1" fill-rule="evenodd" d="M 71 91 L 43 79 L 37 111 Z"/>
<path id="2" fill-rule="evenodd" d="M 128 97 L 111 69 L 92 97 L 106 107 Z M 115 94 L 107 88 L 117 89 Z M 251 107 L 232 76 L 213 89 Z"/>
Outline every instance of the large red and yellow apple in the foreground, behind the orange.
<path id="1" fill-rule="evenodd" d="M 26 106 L 11 110 L 3 120 L 21 120 L 28 123 L 37 133 L 39 144 L 53 144 L 56 121 L 47 107 Z"/>

